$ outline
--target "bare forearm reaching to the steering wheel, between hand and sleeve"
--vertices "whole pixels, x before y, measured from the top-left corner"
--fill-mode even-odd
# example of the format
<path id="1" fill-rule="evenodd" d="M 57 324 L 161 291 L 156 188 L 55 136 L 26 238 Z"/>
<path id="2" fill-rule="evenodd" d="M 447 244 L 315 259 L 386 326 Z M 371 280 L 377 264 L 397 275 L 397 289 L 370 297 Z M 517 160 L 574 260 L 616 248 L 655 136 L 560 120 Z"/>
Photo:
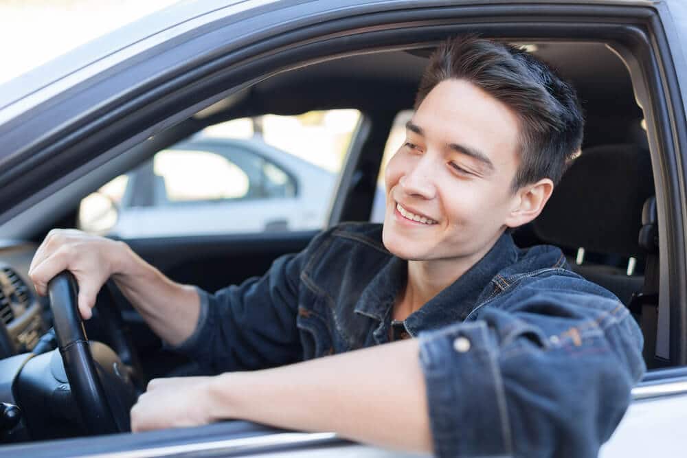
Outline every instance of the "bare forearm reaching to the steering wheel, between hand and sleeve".
<path id="1" fill-rule="evenodd" d="M 200 312 L 196 288 L 172 282 L 124 245 L 112 279 L 157 335 L 171 345 L 195 330 Z"/>

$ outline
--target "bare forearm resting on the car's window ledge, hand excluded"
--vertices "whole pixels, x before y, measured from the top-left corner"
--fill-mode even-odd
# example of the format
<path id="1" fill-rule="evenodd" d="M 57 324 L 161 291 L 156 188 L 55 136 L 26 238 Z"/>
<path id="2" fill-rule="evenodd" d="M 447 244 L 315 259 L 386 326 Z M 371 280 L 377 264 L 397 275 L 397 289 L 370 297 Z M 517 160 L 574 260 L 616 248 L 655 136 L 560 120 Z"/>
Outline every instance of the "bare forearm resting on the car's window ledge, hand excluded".
<path id="1" fill-rule="evenodd" d="M 387 448 L 430 452 L 418 341 L 390 343 L 210 382 L 212 420 L 240 418 L 333 431 Z"/>

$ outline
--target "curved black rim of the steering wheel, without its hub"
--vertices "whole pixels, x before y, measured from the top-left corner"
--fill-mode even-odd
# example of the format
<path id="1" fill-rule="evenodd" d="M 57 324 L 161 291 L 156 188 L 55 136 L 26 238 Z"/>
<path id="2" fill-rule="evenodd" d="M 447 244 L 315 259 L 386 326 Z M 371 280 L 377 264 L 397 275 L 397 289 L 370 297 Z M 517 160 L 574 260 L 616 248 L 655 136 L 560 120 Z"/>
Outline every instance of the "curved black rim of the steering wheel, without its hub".
<path id="1" fill-rule="evenodd" d="M 48 284 L 48 295 L 58 347 L 84 424 L 91 434 L 116 433 L 119 428 L 98 378 L 78 310 L 74 276 L 67 271 L 56 275 Z"/>

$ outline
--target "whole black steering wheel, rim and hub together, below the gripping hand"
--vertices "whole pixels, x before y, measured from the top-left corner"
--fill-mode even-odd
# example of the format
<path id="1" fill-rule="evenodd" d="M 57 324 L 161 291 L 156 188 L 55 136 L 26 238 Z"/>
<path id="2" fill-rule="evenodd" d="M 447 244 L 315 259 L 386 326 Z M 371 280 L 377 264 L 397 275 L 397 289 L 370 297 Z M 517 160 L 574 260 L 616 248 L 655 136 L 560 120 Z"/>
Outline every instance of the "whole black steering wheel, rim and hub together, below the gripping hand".
<path id="1" fill-rule="evenodd" d="M 84 426 L 93 435 L 128 431 L 128 409 L 136 398 L 133 382 L 113 350 L 87 339 L 74 275 L 56 275 L 48 283 L 48 296 L 58 348 Z"/>

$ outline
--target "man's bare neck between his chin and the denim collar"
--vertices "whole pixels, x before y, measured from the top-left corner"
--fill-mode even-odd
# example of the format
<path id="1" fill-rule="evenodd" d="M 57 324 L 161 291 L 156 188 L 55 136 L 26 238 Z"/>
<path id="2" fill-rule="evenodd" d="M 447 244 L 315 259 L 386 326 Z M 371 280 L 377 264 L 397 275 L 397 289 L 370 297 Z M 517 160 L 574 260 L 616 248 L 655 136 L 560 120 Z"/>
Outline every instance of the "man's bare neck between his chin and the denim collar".
<path id="1" fill-rule="evenodd" d="M 499 240 L 497 236 L 477 253 L 451 259 L 408 261 L 407 282 L 401 290 L 394 306 L 393 317 L 404 320 L 409 314 L 419 310 L 433 297 L 462 277 L 477 264 Z"/>

